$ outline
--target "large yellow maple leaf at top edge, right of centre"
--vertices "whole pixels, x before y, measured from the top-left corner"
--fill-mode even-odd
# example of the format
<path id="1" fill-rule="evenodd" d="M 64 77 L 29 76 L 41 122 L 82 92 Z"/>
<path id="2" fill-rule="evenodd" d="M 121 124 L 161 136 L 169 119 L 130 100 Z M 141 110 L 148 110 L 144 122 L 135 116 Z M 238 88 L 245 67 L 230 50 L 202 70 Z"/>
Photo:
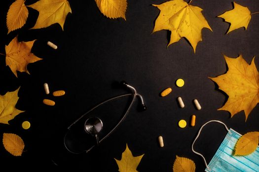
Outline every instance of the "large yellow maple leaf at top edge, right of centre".
<path id="1" fill-rule="evenodd" d="M 171 38 L 168 46 L 185 37 L 195 53 L 198 42 L 202 40 L 201 30 L 208 28 L 212 31 L 201 13 L 202 9 L 189 5 L 184 0 L 170 0 L 153 6 L 160 10 L 153 32 L 163 29 L 170 30 Z"/>

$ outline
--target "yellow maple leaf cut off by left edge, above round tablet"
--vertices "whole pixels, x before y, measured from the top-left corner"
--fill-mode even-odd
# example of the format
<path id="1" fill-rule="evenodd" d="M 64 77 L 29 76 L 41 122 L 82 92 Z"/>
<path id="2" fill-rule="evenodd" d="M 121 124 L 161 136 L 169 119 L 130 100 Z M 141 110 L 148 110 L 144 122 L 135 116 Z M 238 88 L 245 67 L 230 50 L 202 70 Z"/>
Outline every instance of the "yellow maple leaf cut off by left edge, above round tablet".
<path id="1" fill-rule="evenodd" d="M 12 92 L 7 92 L 5 95 L 0 95 L 0 123 L 8 124 L 8 121 L 16 115 L 24 112 L 15 108 L 19 99 L 19 88 Z"/>

